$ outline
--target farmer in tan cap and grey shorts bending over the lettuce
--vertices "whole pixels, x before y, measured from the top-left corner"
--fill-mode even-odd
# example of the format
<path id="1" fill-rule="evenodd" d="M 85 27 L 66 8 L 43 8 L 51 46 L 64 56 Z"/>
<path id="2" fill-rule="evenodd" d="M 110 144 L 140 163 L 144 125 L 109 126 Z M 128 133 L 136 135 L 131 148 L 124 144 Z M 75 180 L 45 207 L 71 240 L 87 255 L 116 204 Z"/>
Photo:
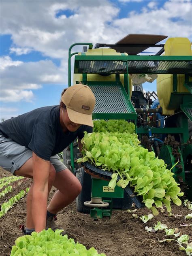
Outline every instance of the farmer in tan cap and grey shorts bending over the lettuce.
<path id="1" fill-rule="evenodd" d="M 13 175 L 33 178 L 25 234 L 61 229 L 53 217 L 81 192 L 81 183 L 56 154 L 77 137 L 81 149 L 83 132 L 92 132 L 94 106 L 91 89 L 78 84 L 63 91 L 59 106 L 35 109 L 0 123 L 0 166 Z M 47 207 L 52 186 L 58 190 Z"/>

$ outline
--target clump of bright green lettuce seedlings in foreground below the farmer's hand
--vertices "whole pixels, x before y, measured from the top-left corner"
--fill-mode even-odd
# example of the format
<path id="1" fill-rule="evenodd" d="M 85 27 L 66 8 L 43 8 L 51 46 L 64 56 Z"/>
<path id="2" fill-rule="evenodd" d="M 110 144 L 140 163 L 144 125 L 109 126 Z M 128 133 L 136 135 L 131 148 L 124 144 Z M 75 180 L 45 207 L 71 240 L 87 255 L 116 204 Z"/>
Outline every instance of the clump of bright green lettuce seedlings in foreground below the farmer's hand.
<path id="1" fill-rule="evenodd" d="M 81 243 L 68 239 L 67 235 L 60 235 L 62 230 L 55 232 L 49 228 L 39 233 L 19 237 L 11 250 L 11 256 L 105 256 L 98 254 L 94 247 L 89 250 Z"/>

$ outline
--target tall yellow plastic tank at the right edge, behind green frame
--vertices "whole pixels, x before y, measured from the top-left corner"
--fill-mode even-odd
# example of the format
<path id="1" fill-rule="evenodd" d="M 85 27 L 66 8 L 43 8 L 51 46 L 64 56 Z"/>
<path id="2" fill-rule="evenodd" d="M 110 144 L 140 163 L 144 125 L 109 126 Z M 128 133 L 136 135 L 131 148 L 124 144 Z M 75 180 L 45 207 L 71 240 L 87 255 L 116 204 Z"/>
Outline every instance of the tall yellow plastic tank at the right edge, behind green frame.
<path id="1" fill-rule="evenodd" d="M 191 43 L 188 38 L 169 38 L 164 45 L 167 56 L 189 56 L 192 55 Z M 185 75 L 177 75 L 177 93 L 190 93 L 183 85 Z M 190 80 L 192 81 L 192 77 Z M 157 78 L 157 95 L 162 107 L 163 115 L 172 115 L 175 110 L 179 109 L 182 102 L 175 101 L 170 106 L 171 94 L 173 93 L 173 75 L 158 75 Z"/>

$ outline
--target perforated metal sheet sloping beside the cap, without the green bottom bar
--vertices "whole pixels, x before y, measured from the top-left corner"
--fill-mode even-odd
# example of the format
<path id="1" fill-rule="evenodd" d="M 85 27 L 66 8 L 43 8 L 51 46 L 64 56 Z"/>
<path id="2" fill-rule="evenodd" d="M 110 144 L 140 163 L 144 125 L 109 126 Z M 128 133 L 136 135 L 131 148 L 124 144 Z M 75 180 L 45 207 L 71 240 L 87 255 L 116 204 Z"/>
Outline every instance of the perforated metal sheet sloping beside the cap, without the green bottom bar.
<path id="1" fill-rule="evenodd" d="M 93 113 L 135 113 L 119 85 L 90 85 L 96 98 Z"/>

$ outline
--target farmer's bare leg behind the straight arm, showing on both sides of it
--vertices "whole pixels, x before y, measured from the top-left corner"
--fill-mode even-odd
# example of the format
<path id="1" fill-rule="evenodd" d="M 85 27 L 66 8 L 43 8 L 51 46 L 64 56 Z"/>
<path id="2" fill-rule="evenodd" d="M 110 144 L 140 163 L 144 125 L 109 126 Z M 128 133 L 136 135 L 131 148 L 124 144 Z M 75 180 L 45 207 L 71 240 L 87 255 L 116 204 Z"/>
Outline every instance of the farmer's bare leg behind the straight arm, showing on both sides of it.
<path id="1" fill-rule="evenodd" d="M 55 179 L 55 168 L 53 165 L 50 165 L 50 172 L 49 172 L 49 183 L 48 183 L 48 194 L 51 190 L 53 185 L 53 181 Z M 15 175 L 33 178 L 33 169 L 32 169 L 32 158 L 29 158 L 17 171 L 14 173 Z M 34 223 L 32 220 L 32 189 L 33 184 L 30 187 L 30 190 L 27 194 L 27 220 L 26 220 L 26 227 L 29 229 L 34 228 Z"/>

